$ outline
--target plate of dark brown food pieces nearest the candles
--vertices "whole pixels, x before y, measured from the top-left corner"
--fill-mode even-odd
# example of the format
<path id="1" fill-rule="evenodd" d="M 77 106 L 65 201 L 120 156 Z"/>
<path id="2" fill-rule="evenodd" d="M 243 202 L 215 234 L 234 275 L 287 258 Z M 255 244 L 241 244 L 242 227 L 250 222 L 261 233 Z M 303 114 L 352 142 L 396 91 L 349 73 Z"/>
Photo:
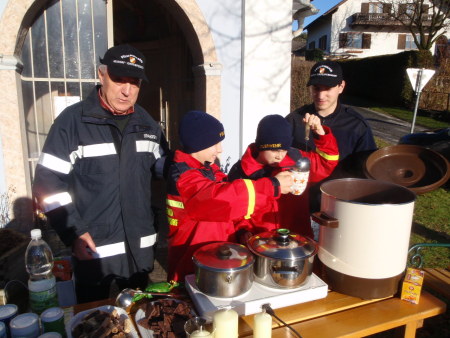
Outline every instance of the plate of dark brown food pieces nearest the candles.
<path id="1" fill-rule="evenodd" d="M 178 299 L 159 299 L 142 304 L 134 320 L 142 338 L 185 337 L 184 323 L 196 314 Z"/>

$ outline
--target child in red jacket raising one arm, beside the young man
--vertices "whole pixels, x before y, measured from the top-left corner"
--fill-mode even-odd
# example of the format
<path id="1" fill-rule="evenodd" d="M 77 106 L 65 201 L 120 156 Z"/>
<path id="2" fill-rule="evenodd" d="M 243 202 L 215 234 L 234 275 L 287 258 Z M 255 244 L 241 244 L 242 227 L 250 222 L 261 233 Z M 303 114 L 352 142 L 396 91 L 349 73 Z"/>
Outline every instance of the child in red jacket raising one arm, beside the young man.
<path id="1" fill-rule="evenodd" d="M 330 128 L 322 126 L 315 115 L 306 114 L 304 122 L 312 131 L 316 150 L 301 151 L 291 147 L 291 125 L 281 115 L 268 115 L 258 124 L 255 143 L 248 146 L 242 159 L 233 165 L 229 180 L 252 180 L 290 170 L 301 157 L 310 160 L 308 185 L 328 177 L 339 160 L 336 139 Z M 237 227 L 245 242 L 251 234 L 277 228 L 288 228 L 303 236 L 313 237 L 309 215 L 308 188 L 301 195 L 283 195 L 273 205 L 267 205 L 251 219 L 243 220 Z"/>

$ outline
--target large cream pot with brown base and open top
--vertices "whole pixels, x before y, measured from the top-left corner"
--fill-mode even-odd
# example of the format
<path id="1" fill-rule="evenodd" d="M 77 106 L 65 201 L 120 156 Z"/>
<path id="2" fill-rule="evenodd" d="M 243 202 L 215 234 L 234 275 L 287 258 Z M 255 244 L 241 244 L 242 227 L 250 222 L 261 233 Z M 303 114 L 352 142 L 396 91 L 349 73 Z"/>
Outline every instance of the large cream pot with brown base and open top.
<path id="1" fill-rule="evenodd" d="M 416 195 L 397 184 L 339 179 L 321 185 L 319 259 L 332 290 L 360 298 L 397 292 Z"/>

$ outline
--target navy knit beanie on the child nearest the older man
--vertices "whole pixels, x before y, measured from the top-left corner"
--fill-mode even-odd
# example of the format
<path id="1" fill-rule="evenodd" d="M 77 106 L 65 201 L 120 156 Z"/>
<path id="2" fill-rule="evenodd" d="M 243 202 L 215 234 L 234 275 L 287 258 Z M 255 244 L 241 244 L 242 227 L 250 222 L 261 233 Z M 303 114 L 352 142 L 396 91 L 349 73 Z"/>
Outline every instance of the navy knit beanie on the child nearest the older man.
<path id="1" fill-rule="evenodd" d="M 184 152 L 191 154 L 209 148 L 225 138 L 222 123 L 202 111 L 187 112 L 178 129 Z"/>

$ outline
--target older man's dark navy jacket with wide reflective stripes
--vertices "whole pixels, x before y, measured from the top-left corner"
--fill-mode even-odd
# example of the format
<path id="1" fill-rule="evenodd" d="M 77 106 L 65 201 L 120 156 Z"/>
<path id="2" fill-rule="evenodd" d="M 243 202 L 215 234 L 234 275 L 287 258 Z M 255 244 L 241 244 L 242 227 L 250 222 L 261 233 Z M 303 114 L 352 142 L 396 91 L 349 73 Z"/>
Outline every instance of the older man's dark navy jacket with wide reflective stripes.
<path id="1" fill-rule="evenodd" d="M 150 188 L 152 172 L 162 172 L 166 144 L 159 125 L 138 105 L 120 132 L 101 107 L 98 88 L 52 125 L 33 193 L 66 245 L 86 232 L 92 236 L 98 258 L 75 262 L 83 283 L 153 268 L 157 229 Z"/>

